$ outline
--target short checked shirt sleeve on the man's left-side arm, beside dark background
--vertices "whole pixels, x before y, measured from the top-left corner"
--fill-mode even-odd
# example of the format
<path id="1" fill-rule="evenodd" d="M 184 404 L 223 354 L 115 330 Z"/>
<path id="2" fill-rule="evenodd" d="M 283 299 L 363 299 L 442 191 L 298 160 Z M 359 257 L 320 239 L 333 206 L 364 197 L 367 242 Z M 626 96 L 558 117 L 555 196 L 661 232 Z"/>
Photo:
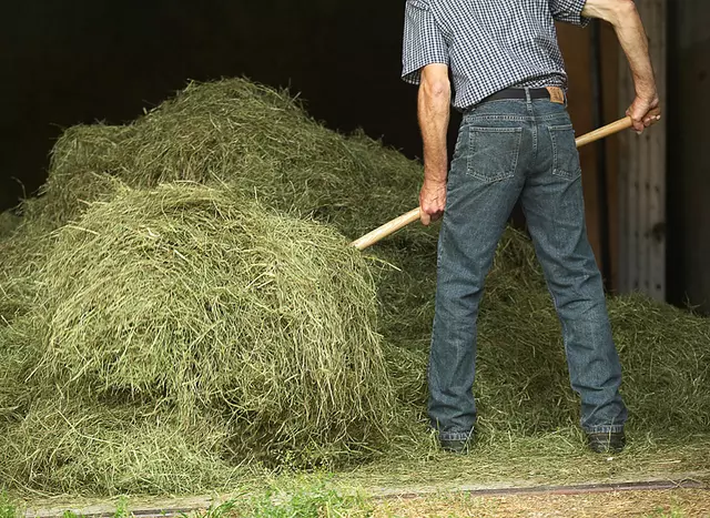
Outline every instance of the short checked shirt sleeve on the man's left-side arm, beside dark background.
<path id="1" fill-rule="evenodd" d="M 402 79 L 419 84 L 427 64 L 448 64 L 448 45 L 427 0 L 407 0 L 404 22 Z"/>

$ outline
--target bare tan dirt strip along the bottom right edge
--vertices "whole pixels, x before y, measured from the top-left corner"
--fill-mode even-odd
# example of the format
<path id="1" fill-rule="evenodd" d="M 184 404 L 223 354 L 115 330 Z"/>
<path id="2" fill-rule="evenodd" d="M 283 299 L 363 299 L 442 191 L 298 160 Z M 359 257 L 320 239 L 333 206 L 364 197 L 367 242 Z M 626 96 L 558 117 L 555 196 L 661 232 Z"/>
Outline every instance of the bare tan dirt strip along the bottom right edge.
<path id="1" fill-rule="evenodd" d="M 426 496 L 383 501 L 375 507 L 373 517 L 710 517 L 710 490 Z"/>

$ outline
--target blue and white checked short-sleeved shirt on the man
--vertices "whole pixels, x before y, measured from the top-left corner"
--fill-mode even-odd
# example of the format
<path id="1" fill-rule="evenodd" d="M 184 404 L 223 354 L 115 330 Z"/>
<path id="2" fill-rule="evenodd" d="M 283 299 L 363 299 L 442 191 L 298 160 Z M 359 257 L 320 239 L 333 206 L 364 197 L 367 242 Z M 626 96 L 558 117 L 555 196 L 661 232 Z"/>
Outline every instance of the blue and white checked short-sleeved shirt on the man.
<path id="1" fill-rule="evenodd" d="M 450 68 L 454 106 L 465 110 L 508 87 L 567 88 L 554 20 L 585 26 L 586 0 L 407 0 L 405 81 Z"/>

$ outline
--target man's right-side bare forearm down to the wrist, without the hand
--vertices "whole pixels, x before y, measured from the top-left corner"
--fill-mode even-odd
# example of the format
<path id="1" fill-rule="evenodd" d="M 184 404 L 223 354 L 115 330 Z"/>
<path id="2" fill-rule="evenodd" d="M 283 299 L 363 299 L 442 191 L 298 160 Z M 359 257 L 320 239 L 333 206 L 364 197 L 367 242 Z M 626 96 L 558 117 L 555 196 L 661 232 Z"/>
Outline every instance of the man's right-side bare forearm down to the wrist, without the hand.
<path id="1" fill-rule="evenodd" d="M 648 52 L 648 37 L 632 0 L 587 0 L 582 16 L 608 21 L 629 60 L 636 94 L 652 100 L 657 97 L 653 68 Z"/>

